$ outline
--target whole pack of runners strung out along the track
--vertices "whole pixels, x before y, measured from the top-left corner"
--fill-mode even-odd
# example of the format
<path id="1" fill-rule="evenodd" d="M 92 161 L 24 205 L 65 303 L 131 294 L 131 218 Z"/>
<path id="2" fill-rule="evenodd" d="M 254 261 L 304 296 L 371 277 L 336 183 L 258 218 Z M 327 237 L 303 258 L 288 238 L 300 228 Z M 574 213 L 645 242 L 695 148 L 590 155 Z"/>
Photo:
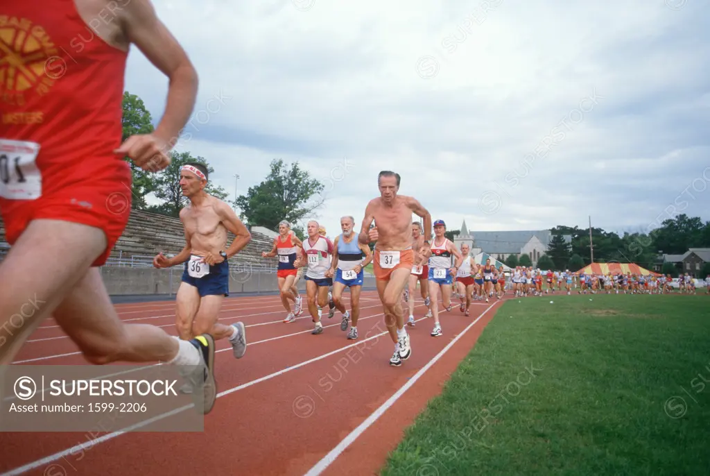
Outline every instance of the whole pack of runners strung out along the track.
<path id="1" fill-rule="evenodd" d="M 201 163 L 182 166 L 180 188 L 189 199 L 180 211 L 185 248 L 177 256 L 158 254 L 153 260 L 156 268 L 183 267 L 175 308 L 177 336 L 155 325 L 121 320 L 99 272 L 131 212 L 131 167 L 124 159 L 146 172 L 168 167 L 169 152 L 195 107 L 197 72 L 148 1 L 123 2 L 118 8 L 109 0 L 53 2 L 51 9 L 45 3 L 3 5 L 9 31 L 16 28 L 22 33 L 18 41 L 4 43 L 4 54 L 23 80 L 0 82 L 6 119 L 0 136 L 0 212 L 11 244 L 0 264 L 0 328 L 12 330 L 0 336 L 0 369 L 13 362 L 31 333 L 51 315 L 93 364 L 178 366 L 185 377 L 181 390 L 191 393 L 201 411 L 209 413 L 217 398 L 215 340 L 229 342 L 237 359 L 246 352 L 244 324 L 224 325 L 218 317 L 229 294 L 228 260 L 249 244 L 251 234 L 226 202 L 205 193 L 207 168 Z M 108 13 L 111 21 L 97 20 Z M 101 40 L 71 48 L 70 43 L 93 23 L 92 38 Z M 29 34 L 37 35 L 33 44 L 46 46 L 46 51 L 36 46 L 35 53 L 27 53 L 23 48 L 30 44 Z M 155 130 L 122 141 L 124 76 L 131 44 L 168 77 L 168 94 Z M 65 48 L 74 50 L 74 56 L 57 75 L 62 58 L 53 55 L 43 65 L 43 55 L 60 54 Z M 28 62 L 31 67 L 25 66 Z M 303 312 L 296 288 L 303 276 L 307 309 L 315 324 L 312 333 L 323 332 L 321 317 L 327 306 L 331 318 L 340 311 L 341 329 L 350 328 L 349 340 L 358 338 L 359 294 L 364 268 L 371 263 L 394 345 L 389 359 L 393 366 L 402 365 L 413 352 L 406 324 L 415 325 L 417 284 L 427 315 L 434 320 L 434 337 L 443 334 L 439 293 L 444 312 L 452 311 L 453 297 L 459 299 L 461 313 L 468 315 L 471 300 L 501 299 L 508 279 L 516 295 L 542 292 L 530 269 L 515 269 L 506 276 L 490 260 L 474 264 L 468 249 L 457 249 L 445 237 L 442 220 L 432 223 L 422 203 L 398 194 L 400 180 L 398 173 L 379 173 L 379 196 L 367 203 L 359 232 L 353 217 L 343 217 L 342 234 L 331 242 L 313 221 L 307 225 L 307 238 L 300 241 L 288 222 L 282 222 L 273 249 L 264 250 L 264 256 L 278 255 L 285 323 Z M 121 199 L 119 207 L 116 198 Z M 413 215 L 421 221 L 413 223 Z M 234 234 L 229 247 L 228 232 Z M 569 277 L 558 280 L 558 288 L 561 282 L 571 292 Z M 646 292 L 647 283 L 622 279 L 621 286 Z M 584 282 L 580 278 L 580 286 L 579 292 L 589 286 L 590 292 L 601 292 L 600 286 L 611 291 L 598 277 Z M 350 290 L 349 310 L 342 301 L 344 288 Z M 16 320 L 27 303 L 34 303 L 35 309 Z M 403 303 L 409 308 L 406 322 Z"/>

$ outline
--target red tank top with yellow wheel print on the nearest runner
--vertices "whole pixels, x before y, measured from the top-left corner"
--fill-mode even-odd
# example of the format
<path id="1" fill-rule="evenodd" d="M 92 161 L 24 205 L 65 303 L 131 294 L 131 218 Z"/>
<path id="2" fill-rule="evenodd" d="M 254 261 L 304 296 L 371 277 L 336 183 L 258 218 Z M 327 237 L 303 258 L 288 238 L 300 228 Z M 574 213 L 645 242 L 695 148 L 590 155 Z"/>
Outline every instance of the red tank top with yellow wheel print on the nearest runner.
<path id="1" fill-rule="evenodd" d="M 113 153 L 127 53 L 99 38 L 74 0 L 2 1 L 0 31 L 0 141 L 39 145 L 42 195 L 130 177 Z"/>

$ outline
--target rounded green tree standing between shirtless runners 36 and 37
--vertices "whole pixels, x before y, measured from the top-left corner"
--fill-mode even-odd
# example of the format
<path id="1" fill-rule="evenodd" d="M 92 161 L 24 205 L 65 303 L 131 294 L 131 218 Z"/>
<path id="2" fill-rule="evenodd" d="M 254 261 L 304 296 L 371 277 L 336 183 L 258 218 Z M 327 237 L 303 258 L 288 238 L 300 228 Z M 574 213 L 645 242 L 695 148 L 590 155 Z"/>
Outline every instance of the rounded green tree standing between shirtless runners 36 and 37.
<path id="1" fill-rule="evenodd" d="M 271 161 L 271 172 L 246 195 L 236 199 L 241 219 L 249 225 L 278 229 L 278 222 L 295 223 L 323 205 L 324 185 L 293 163 L 288 168 L 282 159 Z"/>

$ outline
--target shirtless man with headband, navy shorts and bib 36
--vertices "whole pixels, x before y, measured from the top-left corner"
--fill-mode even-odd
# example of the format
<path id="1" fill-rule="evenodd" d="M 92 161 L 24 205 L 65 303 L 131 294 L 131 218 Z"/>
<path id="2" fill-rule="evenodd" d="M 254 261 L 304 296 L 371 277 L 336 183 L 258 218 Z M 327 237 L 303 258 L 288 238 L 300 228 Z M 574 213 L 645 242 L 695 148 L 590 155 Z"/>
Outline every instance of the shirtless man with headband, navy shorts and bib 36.
<path id="1" fill-rule="evenodd" d="M 249 244 L 251 234 L 226 202 L 204 191 L 207 180 L 207 168 L 201 163 L 187 163 L 180 169 L 180 188 L 190 199 L 190 206 L 180 210 L 186 244 L 173 258 L 158 254 L 153 266 L 166 268 L 185 263 L 175 298 L 175 327 L 180 338 L 190 340 L 207 332 L 215 340 L 227 338 L 234 357 L 241 359 L 246 352 L 244 324 L 224 325 L 217 319 L 224 297 L 229 296 L 227 260 Z M 234 240 L 225 250 L 227 231 L 234 233 Z"/>

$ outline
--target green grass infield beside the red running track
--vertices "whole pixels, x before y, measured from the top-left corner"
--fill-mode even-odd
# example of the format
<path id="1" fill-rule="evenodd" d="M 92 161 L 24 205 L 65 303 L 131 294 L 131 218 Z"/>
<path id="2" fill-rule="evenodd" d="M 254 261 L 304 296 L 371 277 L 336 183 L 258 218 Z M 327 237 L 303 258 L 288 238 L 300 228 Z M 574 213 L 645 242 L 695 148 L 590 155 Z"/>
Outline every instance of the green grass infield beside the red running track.
<path id="1" fill-rule="evenodd" d="M 504 303 L 381 474 L 710 474 L 710 298 Z"/>

